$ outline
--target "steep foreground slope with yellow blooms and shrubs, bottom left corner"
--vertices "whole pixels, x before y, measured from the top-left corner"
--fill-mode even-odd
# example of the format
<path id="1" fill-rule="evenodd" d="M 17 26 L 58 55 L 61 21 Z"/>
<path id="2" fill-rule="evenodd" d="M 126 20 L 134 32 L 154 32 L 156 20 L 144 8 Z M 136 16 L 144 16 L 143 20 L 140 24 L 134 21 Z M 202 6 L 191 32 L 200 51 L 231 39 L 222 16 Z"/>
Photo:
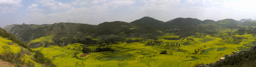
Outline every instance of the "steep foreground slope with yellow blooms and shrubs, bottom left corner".
<path id="1" fill-rule="evenodd" d="M 41 52 L 32 51 L 2 28 L 0 36 L 0 59 L 9 62 L 8 64 L 16 67 L 56 67 Z"/>

